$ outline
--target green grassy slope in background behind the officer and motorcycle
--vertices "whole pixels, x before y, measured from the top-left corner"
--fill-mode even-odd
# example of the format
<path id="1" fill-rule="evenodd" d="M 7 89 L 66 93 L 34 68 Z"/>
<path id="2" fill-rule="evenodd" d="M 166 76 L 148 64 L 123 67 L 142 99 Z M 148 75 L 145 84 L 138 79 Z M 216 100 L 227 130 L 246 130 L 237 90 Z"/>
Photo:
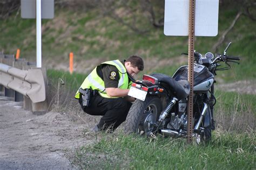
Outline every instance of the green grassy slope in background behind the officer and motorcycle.
<path id="1" fill-rule="evenodd" d="M 196 49 L 206 53 L 217 42 L 221 34 L 230 26 L 236 15 L 235 10 L 220 9 L 219 35 L 217 37 L 197 37 Z M 170 59 L 187 51 L 187 37 L 166 37 L 163 29 L 155 29 L 145 20 L 140 19 L 142 29 L 149 28 L 146 34 L 137 34 L 115 20 L 98 15 L 97 10 L 89 12 L 56 10 L 53 20 L 43 20 L 42 47 L 43 60 L 68 63 L 68 53 L 75 54 L 75 62 L 92 58 L 105 60 L 126 58 L 138 54 L 147 60 Z M 35 60 L 36 31 L 35 20 L 21 19 L 12 16 L 0 20 L 0 49 L 6 54 L 15 53 L 21 49 L 21 55 L 29 60 Z M 248 26 L 250 25 L 250 26 Z M 241 65 L 222 72 L 219 77 L 228 81 L 255 79 L 253 67 L 256 63 L 256 22 L 241 16 L 225 43 L 218 52 L 223 52 L 227 42 L 233 45 L 228 50 L 230 55 L 242 56 Z M 160 65 L 151 72 L 173 74 L 179 64 Z M 234 65 L 234 64 L 233 64 Z M 245 76 L 246 75 L 246 76 Z"/>

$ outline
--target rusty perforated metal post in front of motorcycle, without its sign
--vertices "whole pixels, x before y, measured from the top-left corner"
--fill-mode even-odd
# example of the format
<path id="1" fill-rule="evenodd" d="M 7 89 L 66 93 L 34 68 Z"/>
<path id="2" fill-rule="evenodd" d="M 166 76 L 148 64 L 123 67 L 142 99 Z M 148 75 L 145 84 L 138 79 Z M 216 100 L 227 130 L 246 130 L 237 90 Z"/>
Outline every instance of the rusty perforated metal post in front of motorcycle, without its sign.
<path id="1" fill-rule="evenodd" d="M 190 17 L 188 25 L 188 72 L 187 80 L 190 82 L 190 95 L 188 96 L 187 107 L 187 143 L 192 142 L 193 134 L 193 87 L 194 87 L 194 23 L 196 0 L 190 0 Z"/>

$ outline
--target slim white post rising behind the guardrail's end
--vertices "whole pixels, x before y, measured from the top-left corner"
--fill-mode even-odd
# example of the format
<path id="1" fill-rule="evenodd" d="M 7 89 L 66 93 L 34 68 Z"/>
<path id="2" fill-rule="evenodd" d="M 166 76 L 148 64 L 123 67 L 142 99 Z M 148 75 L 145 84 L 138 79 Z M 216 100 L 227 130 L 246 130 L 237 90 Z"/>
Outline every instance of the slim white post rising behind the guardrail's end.
<path id="1" fill-rule="evenodd" d="M 42 67 L 41 0 L 36 0 L 36 67 Z"/>

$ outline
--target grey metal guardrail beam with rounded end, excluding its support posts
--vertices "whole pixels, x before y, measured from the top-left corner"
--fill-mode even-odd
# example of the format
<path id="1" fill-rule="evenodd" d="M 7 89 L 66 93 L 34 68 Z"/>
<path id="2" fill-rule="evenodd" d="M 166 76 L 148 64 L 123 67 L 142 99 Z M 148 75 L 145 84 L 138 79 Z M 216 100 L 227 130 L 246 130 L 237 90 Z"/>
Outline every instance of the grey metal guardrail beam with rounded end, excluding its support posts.
<path id="1" fill-rule="evenodd" d="M 45 83 L 41 69 L 21 70 L 0 63 L 0 84 L 29 97 L 33 103 L 45 101 Z"/>

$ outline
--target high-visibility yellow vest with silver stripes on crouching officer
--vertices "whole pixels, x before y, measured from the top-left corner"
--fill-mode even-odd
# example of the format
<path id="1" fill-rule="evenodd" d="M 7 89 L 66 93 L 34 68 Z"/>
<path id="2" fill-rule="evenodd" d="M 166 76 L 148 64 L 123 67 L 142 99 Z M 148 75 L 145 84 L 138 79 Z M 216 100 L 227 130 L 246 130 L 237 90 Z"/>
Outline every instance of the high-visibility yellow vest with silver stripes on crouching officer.
<path id="1" fill-rule="evenodd" d="M 129 82 L 129 78 L 126 73 L 126 68 L 122 62 L 120 62 L 119 60 L 113 60 L 113 61 L 103 62 L 102 64 L 113 65 L 117 67 L 119 71 L 118 88 L 129 89 L 131 87 L 132 82 Z M 80 88 L 82 89 L 91 88 L 92 90 L 98 90 L 98 93 L 102 97 L 117 98 L 117 97 L 110 97 L 106 94 L 105 84 L 104 84 L 104 81 L 97 74 L 97 67 L 93 69 L 92 72 L 86 77 L 86 79 L 84 80 Z M 79 94 L 79 91 L 77 90 L 75 98 L 79 99 L 79 97 L 80 97 L 80 94 Z"/>

